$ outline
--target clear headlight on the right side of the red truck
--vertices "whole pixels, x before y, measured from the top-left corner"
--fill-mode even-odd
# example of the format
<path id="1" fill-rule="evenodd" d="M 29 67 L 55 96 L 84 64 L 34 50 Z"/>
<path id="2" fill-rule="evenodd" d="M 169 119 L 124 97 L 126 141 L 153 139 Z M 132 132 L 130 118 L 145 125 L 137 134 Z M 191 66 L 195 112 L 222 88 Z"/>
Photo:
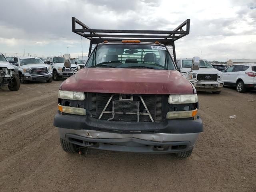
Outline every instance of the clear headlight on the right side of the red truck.
<path id="1" fill-rule="evenodd" d="M 169 104 L 185 104 L 185 103 L 197 103 L 197 94 L 188 95 L 170 95 L 168 98 Z"/>

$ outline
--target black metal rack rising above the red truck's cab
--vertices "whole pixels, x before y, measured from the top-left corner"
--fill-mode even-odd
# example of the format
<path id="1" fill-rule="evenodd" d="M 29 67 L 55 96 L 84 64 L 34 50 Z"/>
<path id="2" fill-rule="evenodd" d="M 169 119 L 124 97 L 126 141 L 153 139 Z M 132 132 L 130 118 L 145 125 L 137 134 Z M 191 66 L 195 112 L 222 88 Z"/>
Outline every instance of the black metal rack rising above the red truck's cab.
<path id="1" fill-rule="evenodd" d="M 78 24 L 78 28 L 76 28 Z M 186 30 L 183 30 L 183 28 Z M 104 41 L 116 42 L 122 40 L 140 40 L 141 42 L 156 42 L 164 44 L 176 62 L 174 41 L 189 34 L 190 19 L 187 19 L 173 31 L 166 30 L 106 30 L 91 29 L 80 20 L 72 17 L 72 32 L 90 40 L 89 55 L 96 45 Z"/>

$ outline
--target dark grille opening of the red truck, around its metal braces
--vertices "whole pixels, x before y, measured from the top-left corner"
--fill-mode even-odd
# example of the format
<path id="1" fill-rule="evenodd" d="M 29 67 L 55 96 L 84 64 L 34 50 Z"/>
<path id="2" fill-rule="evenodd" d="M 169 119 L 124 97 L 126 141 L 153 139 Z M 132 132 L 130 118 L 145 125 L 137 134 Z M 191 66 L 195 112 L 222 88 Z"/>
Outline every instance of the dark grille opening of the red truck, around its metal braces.
<path id="1" fill-rule="evenodd" d="M 94 118 L 99 118 L 102 110 L 106 106 L 108 100 L 110 99 L 112 94 L 108 93 L 89 93 L 89 96 L 91 97 L 90 102 L 90 116 Z M 168 108 L 168 96 L 166 95 L 141 95 L 142 99 L 144 100 L 154 122 L 162 122 L 164 121 L 167 113 Z M 113 103 L 117 106 L 120 106 L 121 111 L 120 112 L 131 112 L 131 108 L 135 109 L 135 106 L 139 107 L 140 113 L 146 113 L 144 104 L 142 103 L 139 95 L 133 95 L 133 101 L 128 101 L 131 99 L 131 95 L 129 94 L 122 94 L 121 99 L 126 100 L 126 102 L 116 102 L 121 101 L 120 100 L 120 94 L 116 94 L 113 96 L 111 102 L 109 103 L 108 107 L 106 108 L 106 111 L 111 112 Z M 136 102 L 139 102 L 136 104 Z M 132 107 L 132 105 L 134 105 Z M 124 107 L 125 106 L 125 107 Z M 118 107 L 119 108 L 119 107 Z M 124 110 L 124 111 L 123 111 Z M 132 112 L 135 112 L 132 110 Z M 136 114 L 115 114 L 114 118 L 112 119 L 112 114 L 103 114 L 100 118 L 101 120 L 108 120 L 111 119 L 111 121 L 117 121 L 117 122 L 137 122 L 138 116 Z M 152 122 L 150 119 L 150 116 L 148 115 L 140 115 L 139 116 L 139 122 Z"/>

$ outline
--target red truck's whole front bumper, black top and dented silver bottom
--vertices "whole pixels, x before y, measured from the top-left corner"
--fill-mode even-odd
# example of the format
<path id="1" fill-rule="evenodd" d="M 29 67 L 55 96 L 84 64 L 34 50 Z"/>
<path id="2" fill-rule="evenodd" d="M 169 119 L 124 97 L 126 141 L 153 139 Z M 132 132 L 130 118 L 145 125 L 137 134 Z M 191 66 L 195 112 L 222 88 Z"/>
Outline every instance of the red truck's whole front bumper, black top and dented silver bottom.
<path id="1" fill-rule="evenodd" d="M 203 131 L 202 120 L 164 122 L 112 122 L 89 116 L 61 115 L 54 118 L 60 137 L 73 144 L 141 153 L 177 153 L 194 147 Z"/>

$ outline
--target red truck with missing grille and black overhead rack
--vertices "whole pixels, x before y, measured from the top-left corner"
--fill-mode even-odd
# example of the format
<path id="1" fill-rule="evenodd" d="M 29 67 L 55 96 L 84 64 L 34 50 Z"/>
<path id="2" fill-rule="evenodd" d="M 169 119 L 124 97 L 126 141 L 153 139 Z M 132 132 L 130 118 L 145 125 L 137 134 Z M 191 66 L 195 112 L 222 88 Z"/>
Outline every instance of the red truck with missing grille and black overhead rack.
<path id="1" fill-rule="evenodd" d="M 91 43 L 85 68 L 58 92 L 54 126 L 64 151 L 84 147 L 190 156 L 203 125 L 196 89 L 174 62 L 174 41 L 189 33 L 189 23 L 174 31 L 93 30 L 72 18 L 73 32 Z M 194 58 L 195 69 L 198 64 Z M 68 54 L 65 65 L 70 65 Z"/>

